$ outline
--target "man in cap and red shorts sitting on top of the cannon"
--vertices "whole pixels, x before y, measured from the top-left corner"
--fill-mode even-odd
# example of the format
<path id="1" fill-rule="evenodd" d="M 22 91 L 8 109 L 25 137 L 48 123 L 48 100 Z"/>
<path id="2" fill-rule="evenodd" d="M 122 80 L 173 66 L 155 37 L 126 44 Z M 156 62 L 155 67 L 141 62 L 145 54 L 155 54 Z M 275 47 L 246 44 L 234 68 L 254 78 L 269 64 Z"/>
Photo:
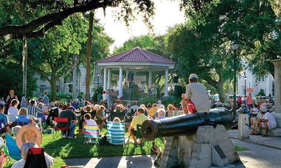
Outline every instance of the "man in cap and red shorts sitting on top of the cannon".
<path id="1" fill-rule="evenodd" d="M 211 109 L 210 101 L 208 95 L 206 93 L 205 86 L 201 83 L 198 83 L 198 77 L 195 74 L 191 74 L 189 76 L 189 83 L 186 86 L 186 93 L 182 94 L 182 108 L 185 114 L 188 114 L 189 109 L 188 106 L 190 101 L 194 103 L 195 109 L 197 112 L 209 112 Z"/>

